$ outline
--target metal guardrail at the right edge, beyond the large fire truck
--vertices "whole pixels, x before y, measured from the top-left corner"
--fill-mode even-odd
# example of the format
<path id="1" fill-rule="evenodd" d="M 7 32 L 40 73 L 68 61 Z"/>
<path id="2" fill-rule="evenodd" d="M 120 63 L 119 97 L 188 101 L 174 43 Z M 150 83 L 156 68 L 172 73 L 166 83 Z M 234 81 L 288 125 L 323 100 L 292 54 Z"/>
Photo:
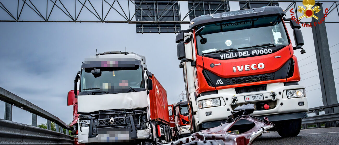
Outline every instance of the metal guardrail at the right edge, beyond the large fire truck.
<path id="1" fill-rule="evenodd" d="M 334 112 L 335 107 L 339 107 L 339 103 L 308 109 L 307 113 L 316 113 L 316 115 L 302 119 L 301 124 L 302 124 L 303 129 L 307 129 L 307 124 L 316 124 L 317 128 L 320 128 L 320 123 L 324 123 L 324 122 L 334 122 L 333 126 L 336 127 L 337 125 L 335 121 L 339 121 L 339 112 L 319 115 L 319 111 L 324 111 L 327 108 L 330 108 L 332 112 Z"/>

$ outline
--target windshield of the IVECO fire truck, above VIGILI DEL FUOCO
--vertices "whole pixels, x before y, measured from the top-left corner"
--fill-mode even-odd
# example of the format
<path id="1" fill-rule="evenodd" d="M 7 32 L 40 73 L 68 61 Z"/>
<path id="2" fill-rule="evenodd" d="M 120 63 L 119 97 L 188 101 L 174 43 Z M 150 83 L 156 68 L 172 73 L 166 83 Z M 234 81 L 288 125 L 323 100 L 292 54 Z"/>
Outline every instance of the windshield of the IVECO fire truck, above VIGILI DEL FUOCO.
<path id="1" fill-rule="evenodd" d="M 199 55 L 225 52 L 223 49 L 227 51 L 264 47 L 279 49 L 289 44 L 284 24 L 278 16 L 207 24 L 196 36 L 196 41 Z"/>

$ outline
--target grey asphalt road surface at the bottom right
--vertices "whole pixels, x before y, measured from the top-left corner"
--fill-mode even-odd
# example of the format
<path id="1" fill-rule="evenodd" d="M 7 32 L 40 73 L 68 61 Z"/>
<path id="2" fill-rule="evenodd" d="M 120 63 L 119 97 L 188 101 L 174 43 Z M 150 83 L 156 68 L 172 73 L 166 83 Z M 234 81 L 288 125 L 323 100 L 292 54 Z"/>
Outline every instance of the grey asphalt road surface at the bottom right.
<path id="1" fill-rule="evenodd" d="M 276 131 L 263 133 L 253 145 L 339 145 L 339 127 L 305 129 L 298 136 L 287 138 Z"/>

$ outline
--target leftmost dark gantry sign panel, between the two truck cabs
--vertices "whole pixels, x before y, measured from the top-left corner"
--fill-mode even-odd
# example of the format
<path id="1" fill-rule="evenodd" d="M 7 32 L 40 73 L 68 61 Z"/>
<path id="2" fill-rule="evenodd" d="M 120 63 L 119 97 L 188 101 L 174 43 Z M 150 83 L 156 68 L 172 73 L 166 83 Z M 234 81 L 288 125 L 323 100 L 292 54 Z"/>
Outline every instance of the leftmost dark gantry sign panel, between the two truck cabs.
<path id="1" fill-rule="evenodd" d="M 160 21 L 161 23 L 136 24 L 137 33 L 178 33 L 181 21 L 179 1 L 135 1 L 136 21 Z"/>

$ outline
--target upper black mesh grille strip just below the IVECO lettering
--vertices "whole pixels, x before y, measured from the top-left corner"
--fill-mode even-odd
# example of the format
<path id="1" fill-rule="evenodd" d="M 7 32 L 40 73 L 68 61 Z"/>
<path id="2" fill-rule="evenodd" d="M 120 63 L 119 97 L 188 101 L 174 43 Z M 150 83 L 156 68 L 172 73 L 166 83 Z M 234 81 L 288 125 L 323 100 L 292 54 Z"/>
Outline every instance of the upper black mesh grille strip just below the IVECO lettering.
<path id="1" fill-rule="evenodd" d="M 268 74 L 260 74 L 260 75 L 253 75 L 253 76 L 226 78 L 225 81 L 226 81 L 226 85 L 253 83 L 253 82 L 274 80 L 274 75 L 275 73 L 268 73 Z"/>

